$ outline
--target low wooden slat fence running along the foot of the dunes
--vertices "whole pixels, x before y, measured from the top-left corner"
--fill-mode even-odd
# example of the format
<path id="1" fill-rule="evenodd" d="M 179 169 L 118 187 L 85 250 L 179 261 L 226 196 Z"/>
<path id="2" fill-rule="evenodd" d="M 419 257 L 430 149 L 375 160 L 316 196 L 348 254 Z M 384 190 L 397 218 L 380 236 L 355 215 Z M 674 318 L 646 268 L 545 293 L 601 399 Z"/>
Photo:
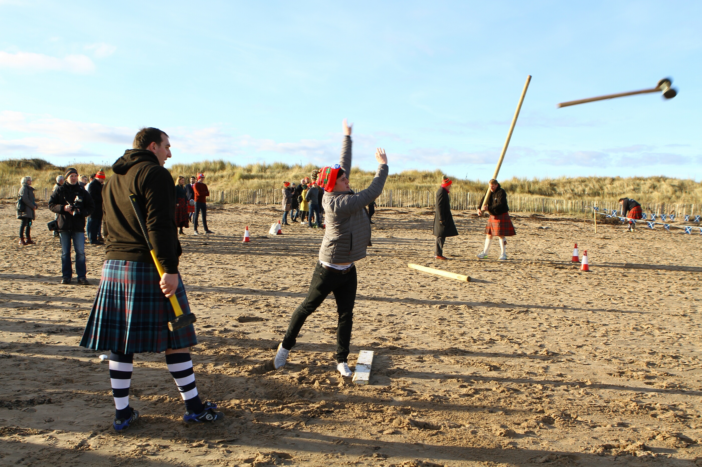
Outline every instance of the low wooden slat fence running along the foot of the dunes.
<path id="1" fill-rule="evenodd" d="M 1 186 L 0 199 L 17 197 L 19 186 Z M 37 188 L 34 191 L 37 200 L 46 201 L 51 196 L 51 188 Z M 282 191 L 278 188 L 261 188 L 259 190 L 210 190 L 208 202 L 230 204 L 281 204 Z M 475 210 L 482 202 L 484 193 L 451 191 L 451 208 L 458 211 Z M 418 207 L 434 208 L 435 191 L 428 190 L 383 190 L 376 203 L 378 207 Z M 592 204 L 597 207 L 615 209 L 619 207 L 616 200 L 560 200 L 550 197 L 509 195 L 508 202 L 512 212 L 535 212 L 543 214 L 577 214 L 592 213 Z M 688 203 L 642 203 L 644 213 L 700 214 L 699 204 Z"/>

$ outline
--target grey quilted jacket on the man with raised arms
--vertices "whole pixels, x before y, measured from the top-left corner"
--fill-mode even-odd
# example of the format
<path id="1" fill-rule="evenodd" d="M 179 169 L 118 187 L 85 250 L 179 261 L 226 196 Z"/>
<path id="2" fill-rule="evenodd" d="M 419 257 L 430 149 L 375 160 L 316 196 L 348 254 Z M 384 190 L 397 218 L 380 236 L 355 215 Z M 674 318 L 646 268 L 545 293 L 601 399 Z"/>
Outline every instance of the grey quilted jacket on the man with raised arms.
<path id="1" fill-rule="evenodd" d="M 339 165 L 348 176 L 351 173 L 351 137 L 344 137 Z M 371 223 L 366 206 L 383 193 L 388 165 L 380 164 L 371 185 L 354 193 L 324 192 L 324 239 L 319 248 L 319 260 L 326 263 L 351 263 L 366 257 L 371 244 Z"/>

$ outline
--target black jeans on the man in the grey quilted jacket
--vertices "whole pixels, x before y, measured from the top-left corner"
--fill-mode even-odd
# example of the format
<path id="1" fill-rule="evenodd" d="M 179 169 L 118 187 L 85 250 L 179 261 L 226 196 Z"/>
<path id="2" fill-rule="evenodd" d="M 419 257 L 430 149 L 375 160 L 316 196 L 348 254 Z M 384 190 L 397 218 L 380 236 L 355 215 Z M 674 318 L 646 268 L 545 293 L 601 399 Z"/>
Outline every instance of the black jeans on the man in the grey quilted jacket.
<path id="1" fill-rule="evenodd" d="M 310 291 L 307 292 L 307 297 L 296 308 L 290 319 L 288 331 L 283 339 L 285 349 L 293 348 L 307 316 L 310 316 L 319 305 L 322 305 L 326 295 L 333 292 L 336 300 L 336 312 L 339 314 L 336 326 L 336 361 L 338 363 L 346 361 L 351 343 L 353 307 L 356 302 L 356 266 L 352 266 L 346 274 L 342 274 L 342 272 L 326 270 L 322 267 L 322 263 L 317 263 L 317 267 L 312 273 Z"/>

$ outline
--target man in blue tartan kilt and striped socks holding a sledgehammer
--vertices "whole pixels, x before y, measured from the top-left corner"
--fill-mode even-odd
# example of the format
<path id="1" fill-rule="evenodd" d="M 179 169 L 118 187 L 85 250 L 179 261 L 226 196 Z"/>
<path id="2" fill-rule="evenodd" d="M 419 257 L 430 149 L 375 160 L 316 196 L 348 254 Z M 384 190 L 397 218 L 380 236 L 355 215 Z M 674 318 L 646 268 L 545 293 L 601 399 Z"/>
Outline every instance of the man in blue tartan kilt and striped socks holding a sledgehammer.
<path id="1" fill-rule="evenodd" d="M 192 324 L 168 330 L 168 321 L 175 318 L 168 297 L 176 295 L 183 313 L 190 313 L 178 274 L 182 251 L 175 222 L 176 195 L 171 174 L 163 167 L 171 157 L 171 144 L 161 130 L 142 128 L 133 147 L 114 162 L 114 176 L 102 192 L 107 260 L 81 346 L 111 351 L 115 430 L 128 428 L 139 417 L 129 406 L 129 385 L 134 354 L 143 352 L 165 352 L 168 370 L 185 401 L 187 423 L 216 421 L 224 414 L 213 403 L 202 403 L 197 394 L 190 358 L 190 346 L 197 344 Z M 129 199 L 131 193 L 137 197 L 154 252 L 164 267 L 162 277 Z"/>

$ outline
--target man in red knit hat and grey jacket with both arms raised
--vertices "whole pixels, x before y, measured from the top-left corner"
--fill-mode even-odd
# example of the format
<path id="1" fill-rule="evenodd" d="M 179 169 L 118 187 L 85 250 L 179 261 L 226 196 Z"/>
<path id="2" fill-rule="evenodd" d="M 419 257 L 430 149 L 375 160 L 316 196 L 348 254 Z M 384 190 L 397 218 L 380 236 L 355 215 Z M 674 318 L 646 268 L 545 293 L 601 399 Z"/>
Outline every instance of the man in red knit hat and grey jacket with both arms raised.
<path id="1" fill-rule="evenodd" d="M 329 293 L 334 293 L 339 315 L 336 327 L 337 370 L 342 376 L 352 375 L 347 357 L 351 342 L 353 307 L 356 301 L 357 275 L 354 261 L 366 257 L 366 247 L 371 244 L 371 223 L 366 206 L 383 192 L 388 178 L 388 157 L 385 150 L 376 150 L 380 162 L 375 178 L 365 190 L 354 193 L 349 188 L 351 172 L 351 125 L 343 122 L 344 141 L 340 164 L 324 167 L 317 183 L 324 190 L 322 205 L 326 211 L 326 230 L 319 248 L 319 263 L 312 273 L 307 297 L 297 307 L 290 319 L 288 331 L 278 346 L 274 367 L 285 365 L 290 349 L 296 343 L 300 328 Z"/>

